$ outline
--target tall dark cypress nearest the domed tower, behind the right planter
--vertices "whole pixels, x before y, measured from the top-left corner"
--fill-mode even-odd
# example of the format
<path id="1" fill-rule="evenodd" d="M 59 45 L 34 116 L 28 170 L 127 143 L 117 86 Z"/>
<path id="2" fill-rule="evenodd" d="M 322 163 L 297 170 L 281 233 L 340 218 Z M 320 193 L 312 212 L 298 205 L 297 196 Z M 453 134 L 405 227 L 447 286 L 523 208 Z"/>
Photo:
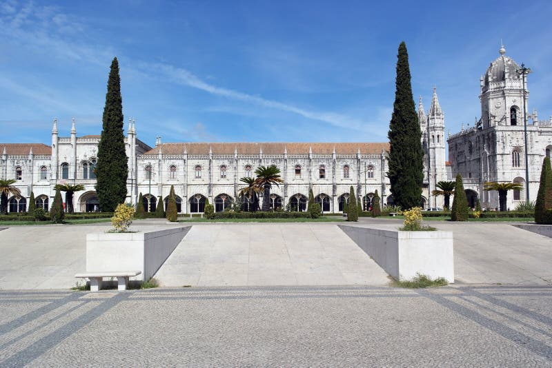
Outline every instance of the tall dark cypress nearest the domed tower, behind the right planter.
<path id="1" fill-rule="evenodd" d="M 395 103 L 388 132 L 391 150 L 388 156 L 387 176 L 395 204 L 403 209 L 410 209 L 420 205 L 424 179 L 424 152 L 421 142 L 422 131 L 412 97 L 408 52 L 404 41 L 400 44 L 397 55 L 395 87 Z"/>

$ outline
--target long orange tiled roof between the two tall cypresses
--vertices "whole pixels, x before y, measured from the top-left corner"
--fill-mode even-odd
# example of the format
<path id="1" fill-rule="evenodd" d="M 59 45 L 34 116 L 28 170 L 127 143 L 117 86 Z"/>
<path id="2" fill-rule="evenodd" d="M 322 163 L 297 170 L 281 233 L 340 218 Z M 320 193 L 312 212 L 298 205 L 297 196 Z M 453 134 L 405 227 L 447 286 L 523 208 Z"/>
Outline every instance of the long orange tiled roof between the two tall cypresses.
<path id="1" fill-rule="evenodd" d="M 163 154 L 183 154 L 184 150 L 188 154 L 208 154 L 209 150 L 213 154 L 308 154 L 312 148 L 313 154 L 332 154 L 334 148 L 336 154 L 380 154 L 382 150 L 389 150 L 389 143 L 162 143 L 161 152 Z M 159 146 L 146 152 L 145 154 L 159 153 Z"/>

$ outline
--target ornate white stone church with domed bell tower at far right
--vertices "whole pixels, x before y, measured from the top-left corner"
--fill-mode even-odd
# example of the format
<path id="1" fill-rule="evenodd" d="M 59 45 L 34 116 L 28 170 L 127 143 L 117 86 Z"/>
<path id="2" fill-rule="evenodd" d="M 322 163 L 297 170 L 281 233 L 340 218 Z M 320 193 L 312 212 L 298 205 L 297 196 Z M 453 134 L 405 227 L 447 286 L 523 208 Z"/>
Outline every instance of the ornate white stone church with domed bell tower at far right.
<path id="1" fill-rule="evenodd" d="M 497 192 L 483 190 L 487 181 L 521 183 L 523 190 L 507 196 L 507 207 L 514 209 L 526 201 L 527 187 L 529 200 L 537 197 L 542 160 L 552 150 L 552 117 L 538 121 L 536 111 L 528 113 L 527 76 L 524 84 L 518 72 L 520 65 L 506 56 L 503 47 L 499 53 L 480 81 L 482 117 L 473 127 L 464 129 L 462 125 L 460 132 L 449 134 L 449 161 L 453 174 L 462 175 L 471 207 L 475 207 L 477 198 L 484 208 L 499 206 Z M 525 179 L 524 109 L 528 119 L 529 185 Z"/>

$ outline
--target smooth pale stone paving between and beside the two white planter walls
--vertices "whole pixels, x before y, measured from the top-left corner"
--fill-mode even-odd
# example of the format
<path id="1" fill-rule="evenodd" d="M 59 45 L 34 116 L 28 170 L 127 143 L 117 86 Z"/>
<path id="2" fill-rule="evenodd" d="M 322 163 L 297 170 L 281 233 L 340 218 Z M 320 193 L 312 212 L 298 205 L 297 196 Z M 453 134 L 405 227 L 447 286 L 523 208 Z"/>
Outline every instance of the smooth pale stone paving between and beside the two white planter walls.
<path id="1" fill-rule="evenodd" d="M 457 284 L 552 285 L 552 240 L 508 223 L 432 226 L 454 234 Z M 351 225 L 351 223 L 347 223 Z M 400 220 L 353 226 L 397 229 Z M 180 226 L 135 221 L 140 231 Z M 0 289 L 68 289 L 86 267 L 86 234 L 109 224 L 12 226 L 0 231 Z M 384 271 L 335 223 L 195 223 L 155 276 L 170 287 L 386 285 Z"/>

